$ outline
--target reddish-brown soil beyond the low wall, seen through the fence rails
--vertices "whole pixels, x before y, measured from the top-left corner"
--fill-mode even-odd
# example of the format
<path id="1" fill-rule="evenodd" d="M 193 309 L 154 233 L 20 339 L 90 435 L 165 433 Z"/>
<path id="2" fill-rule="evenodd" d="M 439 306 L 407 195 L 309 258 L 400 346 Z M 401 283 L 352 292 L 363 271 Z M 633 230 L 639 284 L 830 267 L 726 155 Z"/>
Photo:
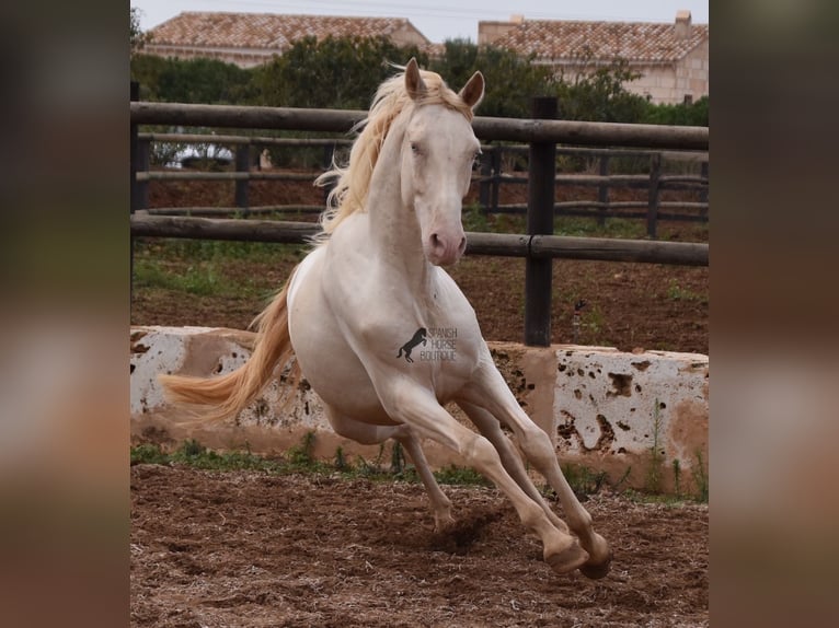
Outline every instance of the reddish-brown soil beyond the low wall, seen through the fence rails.
<path id="1" fill-rule="evenodd" d="M 524 185 L 502 185 L 499 202 L 527 201 Z M 233 184 L 221 182 L 150 182 L 149 207 L 225 207 L 233 200 Z M 611 200 L 644 199 L 646 190 L 612 190 Z M 666 191 L 663 200 L 696 200 Z M 687 193 L 681 193 L 687 194 Z M 560 187 L 556 200 L 596 200 L 597 188 Z M 478 197 L 474 188 L 467 203 Z M 322 205 L 323 191 L 311 182 L 251 183 L 252 207 L 267 205 Z M 314 220 L 295 216 L 291 220 Z M 491 219 L 503 223 L 501 216 Z M 708 228 L 693 222 L 659 222 L 659 237 L 670 241 L 706 242 Z M 233 281 L 254 276 L 268 279 L 278 289 L 295 259 L 254 267 L 231 261 L 225 268 Z M 524 339 L 525 261 L 518 258 L 466 256 L 448 269 L 469 298 L 487 340 Z M 573 325 L 579 300 L 579 325 Z M 131 323 L 135 325 L 198 325 L 243 329 L 264 306 L 264 300 L 230 299 L 177 293 L 166 290 L 135 290 Z M 616 347 L 622 351 L 658 349 L 709 352 L 709 268 L 657 264 L 554 260 L 551 339 L 556 344 Z"/>

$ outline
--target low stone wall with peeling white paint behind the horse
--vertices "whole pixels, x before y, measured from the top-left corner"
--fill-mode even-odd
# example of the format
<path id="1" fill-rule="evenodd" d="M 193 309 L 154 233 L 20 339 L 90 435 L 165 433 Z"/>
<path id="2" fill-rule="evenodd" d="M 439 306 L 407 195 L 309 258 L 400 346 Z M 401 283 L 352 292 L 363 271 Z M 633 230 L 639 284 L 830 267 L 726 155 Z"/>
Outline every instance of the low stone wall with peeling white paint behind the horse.
<path id="1" fill-rule="evenodd" d="M 163 403 L 159 373 L 228 372 L 244 363 L 253 339 L 253 334 L 233 329 L 133 327 L 133 444 L 175 449 L 196 439 L 216 450 L 277 455 L 313 431 L 315 456 L 332 458 L 338 446 L 366 460 L 378 454 L 378 446 L 335 435 L 304 381 L 294 389 L 273 381 L 235 420 L 220 425 L 195 421 Z M 611 484 L 623 487 L 651 488 L 657 481 L 665 491 L 677 488 L 675 465 L 682 492 L 694 491 L 694 478 L 708 476 L 706 356 L 513 342 L 491 342 L 490 348 L 525 411 L 550 434 L 563 465 L 605 472 Z M 466 422 L 456 406 L 449 410 Z M 436 443 L 426 442 L 424 449 L 434 467 L 463 464 Z"/>

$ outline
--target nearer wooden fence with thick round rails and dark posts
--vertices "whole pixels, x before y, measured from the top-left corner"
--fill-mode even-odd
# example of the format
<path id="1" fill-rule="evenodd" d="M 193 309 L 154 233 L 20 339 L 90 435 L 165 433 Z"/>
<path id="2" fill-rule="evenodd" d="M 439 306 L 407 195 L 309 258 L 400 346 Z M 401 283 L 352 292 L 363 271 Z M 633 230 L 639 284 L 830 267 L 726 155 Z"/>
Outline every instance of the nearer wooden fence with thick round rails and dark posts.
<path id="1" fill-rule="evenodd" d="M 136 93 L 133 91 L 133 98 Z M 666 151 L 708 151 L 706 127 L 665 127 L 555 120 L 553 98 L 533 98 L 532 118 L 475 117 L 472 127 L 482 141 L 529 144 L 527 234 L 468 233 L 468 253 L 520 256 L 527 259 L 525 344 L 549 346 L 551 338 L 551 259 L 602 259 L 656 264 L 708 265 L 708 244 L 629 240 L 559 237 L 552 234 L 555 213 L 556 144 L 587 148 L 632 148 Z M 348 132 L 366 112 L 186 105 L 133 101 L 131 123 L 131 236 L 197 237 L 262 242 L 304 242 L 310 223 L 219 220 L 150 216 L 141 210 L 140 125 L 262 128 Z M 245 175 L 254 173 L 225 173 Z M 608 176 L 608 175 L 599 175 Z M 652 177 L 651 177 L 652 178 Z M 655 189 L 660 188 L 658 175 Z M 591 179 L 595 183 L 595 179 Z M 598 185 L 611 183 L 597 181 Z M 665 182 L 666 183 L 666 182 Z M 653 187 L 651 187 L 651 190 Z M 653 194 L 651 191 L 651 194 Z M 657 206 L 656 206 L 657 207 Z M 135 213 L 137 210 L 141 210 Z M 657 218 L 657 217 L 656 217 Z"/>

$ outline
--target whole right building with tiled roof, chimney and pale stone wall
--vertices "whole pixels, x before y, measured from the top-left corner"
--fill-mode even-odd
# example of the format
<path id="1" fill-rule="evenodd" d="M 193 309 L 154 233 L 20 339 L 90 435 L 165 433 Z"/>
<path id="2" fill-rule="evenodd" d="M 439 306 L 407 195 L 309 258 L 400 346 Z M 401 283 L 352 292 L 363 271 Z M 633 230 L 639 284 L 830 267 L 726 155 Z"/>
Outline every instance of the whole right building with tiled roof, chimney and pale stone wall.
<path id="1" fill-rule="evenodd" d="M 641 78 L 630 92 L 656 104 L 693 102 L 709 93 L 709 25 L 689 11 L 674 23 L 525 20 L 479 22 L 478 44 L 501 46 L 556 68 L 566 79 L 623 59 Z"/>

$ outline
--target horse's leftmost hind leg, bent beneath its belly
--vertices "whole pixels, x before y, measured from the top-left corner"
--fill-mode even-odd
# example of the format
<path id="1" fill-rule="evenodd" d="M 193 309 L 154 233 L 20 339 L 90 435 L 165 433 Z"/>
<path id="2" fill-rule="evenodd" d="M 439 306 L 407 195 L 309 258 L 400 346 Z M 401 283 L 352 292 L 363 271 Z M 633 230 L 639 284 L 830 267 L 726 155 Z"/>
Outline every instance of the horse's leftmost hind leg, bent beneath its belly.
<path id="1" fill-rule="evenodd" d="M 396 440 L 405 451 L 409 457 L 416 467 L 416 473 L 420 475 L 420 479 L 425 486 L 425 490 L 428 493 L 428 499 L 432 502 L 432 511 L 434 512 L 434 527 L 435 530 L 441 530 L 455 520 L 451 516 L 451 501 L 443 492 L 437 480 L 434 479 L 428 462 L 425 460 L 425 454 L 420 446 L 420 441 L 411 431 L 407 426 L 373 426 L 365 423 L 356 419 L 352 419 L 346 415 L 342 415 L 334 408 L 326 406 L 326 417 L 330 420 L 332 429 L 335 433 L 347 439 L 352 439 L 363 445 L 375 445 L 387 441 L 388 439 Z"/>

